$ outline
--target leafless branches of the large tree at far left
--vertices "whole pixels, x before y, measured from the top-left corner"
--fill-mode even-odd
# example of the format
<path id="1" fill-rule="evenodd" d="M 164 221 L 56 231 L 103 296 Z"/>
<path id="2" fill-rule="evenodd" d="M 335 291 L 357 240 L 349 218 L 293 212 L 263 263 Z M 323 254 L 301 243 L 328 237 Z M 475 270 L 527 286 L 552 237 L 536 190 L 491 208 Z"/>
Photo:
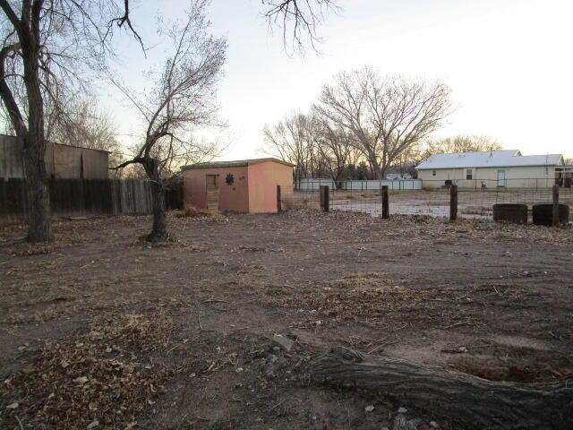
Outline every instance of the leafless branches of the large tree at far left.
<path id="1" fill-rule="evenodd" d="M 30 67 L 38 69 L 42 100 L 57 103 L 64 90 L 78 90 L 89 79 L 83 76 L 102 65 L 112 52 L 115 28 L 133 29 L 128 0 L 0 0 L 0 8 L 5 18 L 0 24 L 4 108 L 24 125 L 30 113 L 23 61 L 27 52 L 35 51 L 37 64 Z"/>

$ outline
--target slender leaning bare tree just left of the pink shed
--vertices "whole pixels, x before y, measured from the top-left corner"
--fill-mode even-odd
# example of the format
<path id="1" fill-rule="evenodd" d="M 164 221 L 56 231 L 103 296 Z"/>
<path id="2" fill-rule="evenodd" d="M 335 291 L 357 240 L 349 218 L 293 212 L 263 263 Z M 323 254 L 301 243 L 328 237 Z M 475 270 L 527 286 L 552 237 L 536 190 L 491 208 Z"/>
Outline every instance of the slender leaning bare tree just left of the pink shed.
<path id="1" fill-rule="evenodd" d="M 205 17 L 206 0 L 193 0 L 183 26 L 167 25 L 173 52 L 160 74 L 151 74 L 153 90 L 141 99 L 133 91 L 118 87 L 141 112 L 146 130 L 133 159 L 115 169 L 140 164 L 153 187 L 153 227 L 148 240 L 165 241 L 166 174 L 182 160 L 195 161 L 213 155 L 212 145 L 193 139 L 194 127 L 214 125 L 218 106 L 215 90 L 225 63 L 227 41 L 209 33 Z"/>

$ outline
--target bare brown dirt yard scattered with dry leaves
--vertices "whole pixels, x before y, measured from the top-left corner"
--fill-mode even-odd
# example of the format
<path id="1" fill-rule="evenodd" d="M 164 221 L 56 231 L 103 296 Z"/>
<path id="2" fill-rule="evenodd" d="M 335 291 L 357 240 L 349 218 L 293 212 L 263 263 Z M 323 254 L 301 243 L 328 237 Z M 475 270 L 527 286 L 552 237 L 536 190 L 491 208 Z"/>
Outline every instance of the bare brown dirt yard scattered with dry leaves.
<path id="1" fill-rule="evenodd" d="M 495 381 L 573 373 L 573 228 L 351 212 L 0 228 L 0 428 L 464 428 L 314 386 L 346 346 Z M 271 338 L 295 340 L 286 352 Z M 373 407 L 373 409 L 371 408 Z"/>

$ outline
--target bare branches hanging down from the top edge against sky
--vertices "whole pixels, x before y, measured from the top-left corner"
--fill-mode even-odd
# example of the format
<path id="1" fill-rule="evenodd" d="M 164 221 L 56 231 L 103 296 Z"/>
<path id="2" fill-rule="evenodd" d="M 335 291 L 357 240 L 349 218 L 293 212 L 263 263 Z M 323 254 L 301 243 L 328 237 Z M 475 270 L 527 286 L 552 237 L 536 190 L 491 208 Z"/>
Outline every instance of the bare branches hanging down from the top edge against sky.
<path id="1" fill-rule="evenodd" d="M 310 44 L 316 49 L 321 39 L 317 29 L 326 13 L 338 10 L 337 0 L 262 0 L 269 27 L 282 31 L 287 52 L 304 52 Z"/>

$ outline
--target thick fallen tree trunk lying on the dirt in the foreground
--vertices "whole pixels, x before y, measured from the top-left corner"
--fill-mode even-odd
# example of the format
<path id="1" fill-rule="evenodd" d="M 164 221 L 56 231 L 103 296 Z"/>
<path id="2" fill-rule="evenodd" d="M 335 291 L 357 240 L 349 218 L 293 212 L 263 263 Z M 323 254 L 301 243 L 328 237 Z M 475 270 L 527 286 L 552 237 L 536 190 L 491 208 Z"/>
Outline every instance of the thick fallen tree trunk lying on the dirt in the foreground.
<path id="1" fill-rule="evenodd" d="M 347 348 L 332 349 L 305 370 L 315 383 L 380 392 L 464 428 L 573 428 L 571 380 L 495 383 L 437 367 L 366 356 Z"/>

